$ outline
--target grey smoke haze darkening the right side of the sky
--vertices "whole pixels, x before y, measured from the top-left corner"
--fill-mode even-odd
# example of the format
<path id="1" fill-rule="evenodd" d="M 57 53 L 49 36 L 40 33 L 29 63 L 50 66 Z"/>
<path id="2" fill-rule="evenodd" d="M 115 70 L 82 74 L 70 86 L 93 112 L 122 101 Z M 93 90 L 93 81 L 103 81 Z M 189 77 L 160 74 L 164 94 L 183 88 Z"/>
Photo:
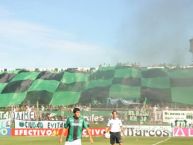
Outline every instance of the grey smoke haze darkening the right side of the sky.
<path id="1" fill-rule="evenodd" d="M 192 0 L 146 0 L 127 3 L 118 38 L 124 60 L 140 64 L 191 64 Z M 127 9 L 125 9 L 127 12 Z"/>

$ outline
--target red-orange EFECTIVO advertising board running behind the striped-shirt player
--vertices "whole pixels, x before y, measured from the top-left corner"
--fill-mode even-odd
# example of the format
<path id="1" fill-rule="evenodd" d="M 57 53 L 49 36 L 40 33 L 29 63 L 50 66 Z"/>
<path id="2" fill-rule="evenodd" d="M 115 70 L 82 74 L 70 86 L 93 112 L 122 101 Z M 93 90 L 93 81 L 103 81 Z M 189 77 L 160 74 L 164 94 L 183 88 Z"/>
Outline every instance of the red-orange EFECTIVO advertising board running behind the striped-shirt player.
<path id="1" fill-rule="evenodd" d="M 92 128 L 92 136 L 102 136 L 105 128 Z M 62 129 L 30 129 L 30 128 L 13 128 L 11 129 L 12 136 L 58 136 L 61 135 Z M 67 132 L 65 133 L 66 136 Z M 87 131 L 84 129 L 82 132 L 83 137 L 88 136 Z"/>

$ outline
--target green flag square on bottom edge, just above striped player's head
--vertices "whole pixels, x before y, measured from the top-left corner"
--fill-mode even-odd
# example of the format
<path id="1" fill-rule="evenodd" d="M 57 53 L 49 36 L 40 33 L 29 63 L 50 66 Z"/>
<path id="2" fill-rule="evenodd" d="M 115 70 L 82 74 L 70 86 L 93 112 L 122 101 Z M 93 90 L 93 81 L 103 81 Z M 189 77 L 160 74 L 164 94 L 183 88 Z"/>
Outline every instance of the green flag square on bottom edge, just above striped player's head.
<path id="1" fill-rule="evenodd" d="M 67 106 L 76 104 L 79 102 L 80 93 L 79 92 L 56 92 L 54 93 L 50 105 L 54 106 Z"/>

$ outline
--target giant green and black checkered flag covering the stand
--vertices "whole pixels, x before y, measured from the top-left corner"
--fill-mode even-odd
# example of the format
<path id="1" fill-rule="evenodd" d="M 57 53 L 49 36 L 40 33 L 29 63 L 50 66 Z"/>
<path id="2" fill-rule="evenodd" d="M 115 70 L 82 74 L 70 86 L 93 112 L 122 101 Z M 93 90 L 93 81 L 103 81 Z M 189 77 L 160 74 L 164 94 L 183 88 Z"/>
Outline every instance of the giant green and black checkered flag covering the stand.
<path id="1" fill-rule="evenodd" d="M 105 104 L 108 97 L 149 103 L 193 104 L 193 68 L 107 66 L 89 73 L 15 70 L 0 73 L 0 102 L 51 105 Z M 19 98 L 14 99 L 12 97 Z M 26 95 L 27 94 L 27 95 Z M 10 99 L 11 98 L 11 99 Z M 18 101 L 19 100 L 19 101 Z M 96 103 L 97 102 L 97 103 Z"/>

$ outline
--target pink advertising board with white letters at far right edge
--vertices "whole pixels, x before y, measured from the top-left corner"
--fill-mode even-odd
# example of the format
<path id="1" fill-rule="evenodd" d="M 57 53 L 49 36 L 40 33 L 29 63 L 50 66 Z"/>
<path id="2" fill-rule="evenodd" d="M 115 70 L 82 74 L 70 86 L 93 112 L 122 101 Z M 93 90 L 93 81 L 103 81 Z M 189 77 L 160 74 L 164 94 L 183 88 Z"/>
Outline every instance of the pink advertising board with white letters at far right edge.
<path id="1" fill-rule="evenodd" d="M 174 137 L 193 137 L 193 128 L 174 128 Z"/>

